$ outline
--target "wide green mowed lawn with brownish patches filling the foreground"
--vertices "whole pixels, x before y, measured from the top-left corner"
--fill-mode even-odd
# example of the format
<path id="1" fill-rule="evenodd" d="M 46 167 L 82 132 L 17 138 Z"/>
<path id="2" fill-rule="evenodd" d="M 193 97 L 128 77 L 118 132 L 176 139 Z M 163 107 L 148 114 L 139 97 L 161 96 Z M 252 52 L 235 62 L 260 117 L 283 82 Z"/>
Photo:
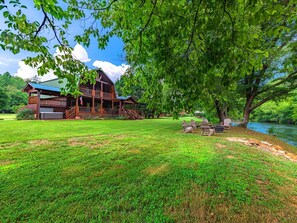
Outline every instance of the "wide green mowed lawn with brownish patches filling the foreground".
<path id="1" fill-rule="evenodd" d="M 0 122 L 0 222 L 297 222 L 297 163 L 181 120 Z M 272 141 L 271 141 L 272 140 Z"/>

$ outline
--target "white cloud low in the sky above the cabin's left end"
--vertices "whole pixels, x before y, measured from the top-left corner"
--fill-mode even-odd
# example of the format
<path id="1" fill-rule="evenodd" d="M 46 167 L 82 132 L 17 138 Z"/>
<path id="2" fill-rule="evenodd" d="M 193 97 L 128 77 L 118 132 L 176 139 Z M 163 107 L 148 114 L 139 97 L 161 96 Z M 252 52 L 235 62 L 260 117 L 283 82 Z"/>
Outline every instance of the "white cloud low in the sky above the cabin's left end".
<path id="1" fill-rule="evenodd" d="M 36 75 L 38 75 L 37 68 L 33 68 L 33 67 L 30 67 L 29 65 L 26 65 L 24 61 L 19 61 L 19 68 L 17 70 L 17 73 L 14 74 L 14 76 L 21 77 L 23 79 L 29 79 Z M 40 77 L 40 81 L 46 81 L 46 80 L 57 78 L 57 76 L 54 75 L 53 71 L 50 71 L 49 73 L 39 77 Z"/>

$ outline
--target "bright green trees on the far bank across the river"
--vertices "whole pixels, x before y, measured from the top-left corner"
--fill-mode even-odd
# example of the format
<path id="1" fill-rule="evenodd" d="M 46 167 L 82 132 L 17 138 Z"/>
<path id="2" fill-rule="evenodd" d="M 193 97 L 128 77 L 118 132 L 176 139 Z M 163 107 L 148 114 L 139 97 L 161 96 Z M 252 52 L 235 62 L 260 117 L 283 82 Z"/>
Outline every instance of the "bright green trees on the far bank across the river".
<path id="1" fill-rule="evenodd" d="M 297 92 L 279 102 L 269 101 L 263 104 L 254 111 L 252 120 L 297 124 Z"/>

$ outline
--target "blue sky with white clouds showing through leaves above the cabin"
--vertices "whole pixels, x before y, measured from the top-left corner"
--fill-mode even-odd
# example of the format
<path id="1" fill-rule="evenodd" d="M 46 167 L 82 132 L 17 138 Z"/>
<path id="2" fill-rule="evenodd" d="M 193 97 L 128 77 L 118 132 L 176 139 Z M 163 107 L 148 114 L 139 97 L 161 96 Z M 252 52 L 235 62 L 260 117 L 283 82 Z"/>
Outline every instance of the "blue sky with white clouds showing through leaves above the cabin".
<path id="1" fill-rule="evenodd" d="M 37 11 L 33 7 L 33 3 L 27 3 L 28 9 L 26 14 L 30 21 L 37 20 L 41 23 L 43 16 L 42 13 Z M 4 24 L 4 18 L 2 12 L 0 13 L 0 29 L 6 28 Z M 80 27 L 80 21 L 73 23 L 72 28 L 70 28 L 70 43 L 72 47 L 75 47 L 75 53 L 78 57 L 82 57 L 82 61 L 86 63 L 89 68 L 101 67 L 114 81 L 120 77 L 128 67 L 124 61 L 124 51 L 123 42 L 118 37 L 113 37 L 110 39 L 108 46 L 104 50 L 100 50 L 97 47 L 97 42 L 95 40 L 91 41 L 88 48 L 77 46 L 77 43 L 71 40 L 71 35 L 77 34 Z M 81 30 L 80 30 L 81 31 Z M 73 32 L 73 33 L 71 33 Z M 51 52 L 56 53 L 56 49 L 52 48 Z M 28 67 L 21 60 L 28 56 L 32 56 L 30 52 L 20 52 L 19 54 L 12 54 L 9 51 L 3 51 L 0 49 L 0 74 L 4 72 L 9 72 L 12 75 L 20 76 L 22 78 L 29 78 L 36 75 L 36 69 Z M 95 65 L 95 66 L 94 66 Z M 42 80 L 53 78 L 53 74 L 46 75 L 42 77 Z"/>

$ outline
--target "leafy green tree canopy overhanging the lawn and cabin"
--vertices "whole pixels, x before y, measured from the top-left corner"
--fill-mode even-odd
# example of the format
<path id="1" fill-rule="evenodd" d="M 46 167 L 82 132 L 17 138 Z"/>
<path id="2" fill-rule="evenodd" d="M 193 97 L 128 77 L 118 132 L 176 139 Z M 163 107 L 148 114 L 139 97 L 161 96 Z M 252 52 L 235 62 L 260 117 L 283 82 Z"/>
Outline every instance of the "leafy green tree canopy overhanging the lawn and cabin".
<path id="1" fill-rule="evenodd" d="M 110 37 L 122 38 L 146 102 L 158 103 L 162 88 L 170 89 L 168 109 L 175 114 L 200 100 L 222 119 L 241 105 L 246 126 L 255 108 L 297 87 L 294 1 L 35 0 L 34 7 L 41 21 L 30 21 L 20 1 L 0 1 L 8 27 L 0 46 L 35 52 L 26 62 L 39 66 L 40 75 L 53 69 L 68 79 L 73 94 L 77 78 L 94 78 L 71 56 L 67 30 L 75 20 L 85 21 L 74 36 L 84 46 L 96 40 L 104 48 Z M 44 30 L 53 34 L 61 56 L 50 53 Z"/>

